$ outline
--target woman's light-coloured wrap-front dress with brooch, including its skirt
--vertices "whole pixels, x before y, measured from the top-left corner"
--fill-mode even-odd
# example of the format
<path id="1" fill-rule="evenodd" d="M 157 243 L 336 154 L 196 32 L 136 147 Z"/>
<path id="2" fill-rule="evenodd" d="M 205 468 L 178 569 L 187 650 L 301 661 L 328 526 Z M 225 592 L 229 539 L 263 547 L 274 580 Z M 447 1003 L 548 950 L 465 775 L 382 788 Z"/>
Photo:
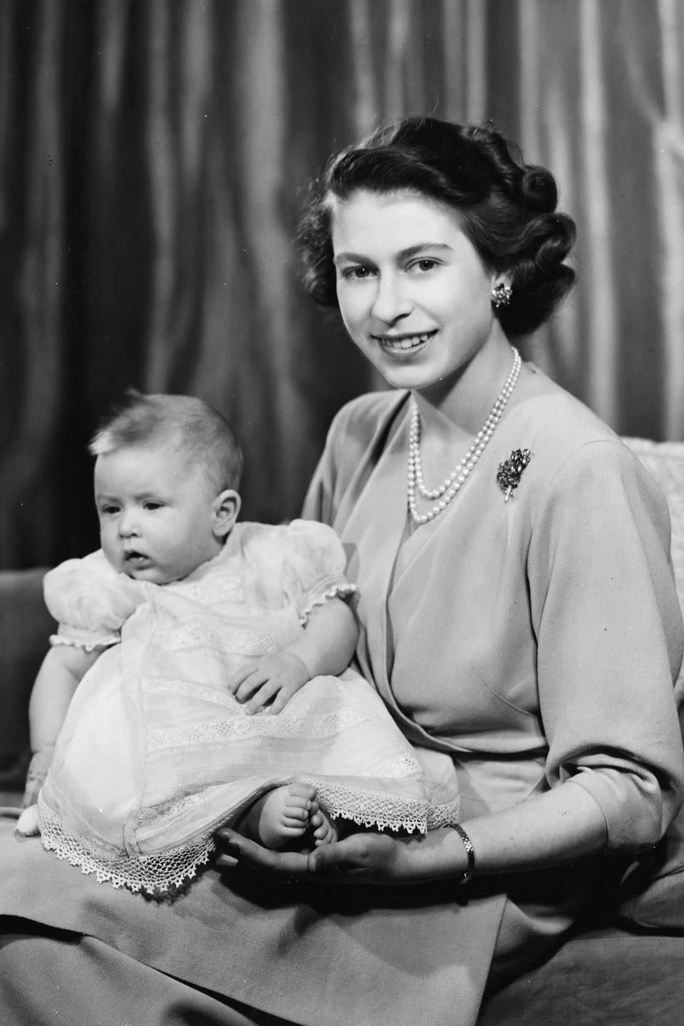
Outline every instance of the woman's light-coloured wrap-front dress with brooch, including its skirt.
<path id="1" fill-rule="evenodd" d="M 69 973 L 92 1021 L 104 995 L 123 1021 L 170 1024 L 183 1007 L 222 1026 L 473 1026 L 485 985 L 561 943 L 611 853 L 661 835 L 683 786 L 662 494 L 609 428 L 534 372 L 457 499 L 408 532 L 409 423 L 406 393 L 347 405 L 305 506 L 335 528 L 359 587 L 359 666 L 412 742 L 450 755 L 462 822 L 568 782 L 597 801 L 608 852 L 466 886 L 283 885 L 210 869 L 183 903 L 151 909 L 0 832 L 0 912 L 31 920 L 7 920 L 25 936 L 6 969 L 0 950 L 14 1002 L 38 1004 L 35 974 L 17 978 L 27 952 L 41 979 Z M 531 459 L 506 503 L 496 474 L 516 448 Z M 210 1009 L 209 993 L 220 995 Z M 41 995 L 52 1015 L 54 988 Z"/>

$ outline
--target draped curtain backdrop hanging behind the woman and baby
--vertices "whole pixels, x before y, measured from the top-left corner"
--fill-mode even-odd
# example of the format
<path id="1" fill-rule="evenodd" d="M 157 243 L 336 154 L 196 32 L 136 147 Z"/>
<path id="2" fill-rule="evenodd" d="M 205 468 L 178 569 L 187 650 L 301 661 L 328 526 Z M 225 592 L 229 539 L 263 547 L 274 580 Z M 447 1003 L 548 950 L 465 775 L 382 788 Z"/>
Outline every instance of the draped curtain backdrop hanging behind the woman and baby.
<path id="1" fill-rule="evenodd" d="M 680 0 L 0 0 L 0 558 L 97 544 L 85 446 L 128 386 L 202 396 L 245 516 L 296 514 L 381 387 L 297 284 L 307 180 L 389 118 L 493 121 L 556 173 L 577 287 L 528 354 L 684 438 Z"/>

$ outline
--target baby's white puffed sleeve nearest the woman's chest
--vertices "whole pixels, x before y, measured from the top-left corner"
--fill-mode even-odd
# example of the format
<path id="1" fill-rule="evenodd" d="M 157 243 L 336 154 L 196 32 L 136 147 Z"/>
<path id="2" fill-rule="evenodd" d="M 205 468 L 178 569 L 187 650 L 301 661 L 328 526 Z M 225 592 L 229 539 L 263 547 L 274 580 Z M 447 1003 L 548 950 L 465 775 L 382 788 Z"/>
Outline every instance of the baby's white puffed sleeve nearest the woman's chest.
<path id="1" fill-rule="evenodd" d="M 346 598 L 356 587 L 345 578 L 345 550 L 331 527 L 293 520 L 283 530 L 282 588 L 304 625 L 315 606 L 328 598 Z"/>

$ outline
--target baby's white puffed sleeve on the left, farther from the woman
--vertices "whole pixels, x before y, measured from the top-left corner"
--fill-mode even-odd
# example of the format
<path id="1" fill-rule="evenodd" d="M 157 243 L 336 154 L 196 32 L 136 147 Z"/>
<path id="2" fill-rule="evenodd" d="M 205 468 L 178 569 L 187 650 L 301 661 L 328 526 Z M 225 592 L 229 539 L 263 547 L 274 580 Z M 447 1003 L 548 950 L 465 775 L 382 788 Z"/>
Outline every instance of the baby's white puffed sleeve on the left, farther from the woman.
<path id="1" fill-rule="evenodd" d="M 144 600 L 143 585 L 116 574 L 102 550 L 68 559 L 45 575 L 45 604 L 59 624 L 50 644 L 92 652 L 117 644 L 121 627 Z"/>

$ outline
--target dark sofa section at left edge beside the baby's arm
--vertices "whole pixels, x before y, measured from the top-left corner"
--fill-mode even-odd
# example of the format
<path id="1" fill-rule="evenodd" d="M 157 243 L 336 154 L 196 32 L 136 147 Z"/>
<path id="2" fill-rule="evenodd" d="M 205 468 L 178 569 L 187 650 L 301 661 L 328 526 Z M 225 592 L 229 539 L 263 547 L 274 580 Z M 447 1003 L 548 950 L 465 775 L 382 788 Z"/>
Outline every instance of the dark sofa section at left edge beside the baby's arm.
<path id="1" fill-rule="evenodd" d="M 54 621 L 43 602 L 45 568 L 0 571 L 0 784 L 21 786 L 29 748 L 29 698 Z"/>

